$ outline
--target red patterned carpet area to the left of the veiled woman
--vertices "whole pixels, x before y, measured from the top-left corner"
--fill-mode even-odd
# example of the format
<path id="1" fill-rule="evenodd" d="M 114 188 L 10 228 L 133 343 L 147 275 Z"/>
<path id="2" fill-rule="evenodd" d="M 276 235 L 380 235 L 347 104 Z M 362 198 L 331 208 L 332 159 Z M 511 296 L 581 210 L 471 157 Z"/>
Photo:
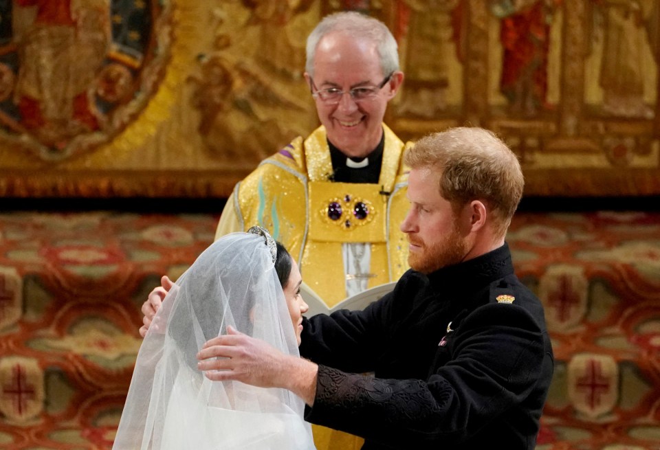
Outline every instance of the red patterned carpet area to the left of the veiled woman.
<path id="1" fill-rule="evenodd" d="M 109 449 L 139 306 L 213 239 L 211 215 L 0 216 L 0 447 Z"/>

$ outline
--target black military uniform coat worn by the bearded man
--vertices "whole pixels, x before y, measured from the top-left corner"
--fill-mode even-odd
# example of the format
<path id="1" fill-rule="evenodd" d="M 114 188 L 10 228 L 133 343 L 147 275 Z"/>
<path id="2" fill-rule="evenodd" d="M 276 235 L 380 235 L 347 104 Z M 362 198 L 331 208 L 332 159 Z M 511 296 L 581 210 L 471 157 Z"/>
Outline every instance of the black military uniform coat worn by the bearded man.
<path id="1" fill-rule="evenodd" d="M 535 447 L 553 355 L 508 245 L 303 326 L 300 353 L 320 364 L 311 423 L 365 450 Z"/>

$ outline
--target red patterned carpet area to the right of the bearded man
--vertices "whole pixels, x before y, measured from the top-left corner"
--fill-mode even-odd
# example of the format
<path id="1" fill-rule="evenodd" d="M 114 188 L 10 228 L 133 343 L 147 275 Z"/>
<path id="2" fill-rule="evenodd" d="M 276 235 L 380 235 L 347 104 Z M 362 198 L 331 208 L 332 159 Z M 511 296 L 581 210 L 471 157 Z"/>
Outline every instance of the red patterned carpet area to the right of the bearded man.
<path id="1" fill-rule="evenodd" d="M 519 214 L 555 375 L 538 449 L 660 449 L 660 214 Z"/>

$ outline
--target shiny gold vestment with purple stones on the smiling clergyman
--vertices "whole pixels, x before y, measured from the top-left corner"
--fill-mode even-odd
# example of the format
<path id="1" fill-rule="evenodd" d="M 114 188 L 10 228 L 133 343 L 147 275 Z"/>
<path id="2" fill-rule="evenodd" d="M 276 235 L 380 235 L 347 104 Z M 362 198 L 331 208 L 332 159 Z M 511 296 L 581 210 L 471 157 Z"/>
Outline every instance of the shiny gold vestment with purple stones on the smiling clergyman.
<path id="1" fill-rule="evenodd" d="M 408 211 L 404 143 L 385 125 L 377 184 L 334 183 L 321 126 L 265 159 L 234 189 L 243 229 L 261 225 L 289 249 L 305 282 L 334 306 L 346 297 L 348 276 L 369 287 L 398 280 L 408 269 L 408 244 L 399 230 Z M 369 273 L 344 273 L 342 243 L 371 243 Z"/>

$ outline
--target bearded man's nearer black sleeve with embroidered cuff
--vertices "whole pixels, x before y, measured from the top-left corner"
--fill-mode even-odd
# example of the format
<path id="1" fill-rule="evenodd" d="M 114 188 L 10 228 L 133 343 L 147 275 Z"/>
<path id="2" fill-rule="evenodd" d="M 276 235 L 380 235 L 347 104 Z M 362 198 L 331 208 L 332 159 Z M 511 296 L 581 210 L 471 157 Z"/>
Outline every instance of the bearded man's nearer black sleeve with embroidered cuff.
<path id="1" fill-rule="evenodd" d="M 384 445 L 446 445 L 522 402 L 542 376 L 543 332 L 522 308 L 487 304 L 452 334 L 452 358 L 426 381 L 375 379 L 320 365 L 305 419 Z"/>

